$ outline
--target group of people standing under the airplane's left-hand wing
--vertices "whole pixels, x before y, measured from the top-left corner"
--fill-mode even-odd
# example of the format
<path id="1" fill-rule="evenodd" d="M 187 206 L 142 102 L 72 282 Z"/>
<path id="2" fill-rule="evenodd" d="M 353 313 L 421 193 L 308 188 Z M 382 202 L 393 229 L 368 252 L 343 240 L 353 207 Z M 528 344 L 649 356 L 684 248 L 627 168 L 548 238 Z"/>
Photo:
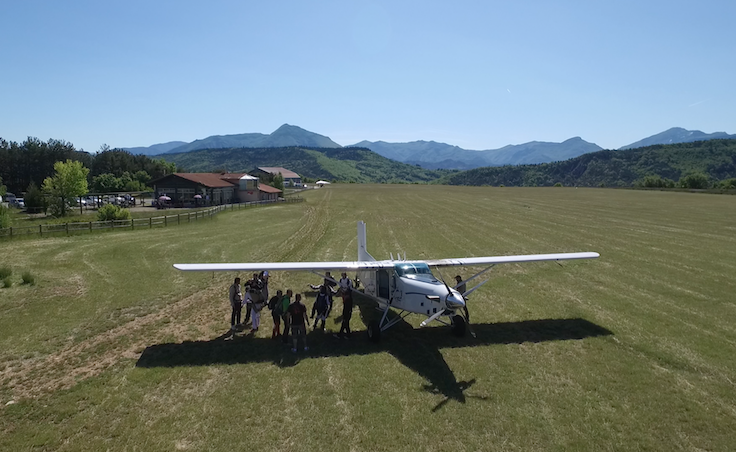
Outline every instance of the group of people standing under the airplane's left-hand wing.
<path id="1" fill-rule="evenodd" d="M 292 352 L 296 353 L 297 345 L 301 340 L 304 350 L 309 350 L 307 346 L 307 326 L 310 325 L 310 318 L 307 315 L 307 307 L 302 303 L 302 294 L 294 295 L 291 289 L 287 289 L 286 293 L 281 290 L 276 291 L 276 295 L 269 298 L 268 295 L 268 271 L 254 273 L 253 277 L 246 281 L 242 286 L 240 278 L 230 286 L 230 306 L 232 314 L 230 316 L 230 329 L 236 331 L 251 322 L 251 333 L 258 331 L 261 325 L 261 311 L 268 307 L 273 317 L 273 331 L 271 338 L 281 337 L 284 343 L 288 343 L 289 332 L 291 332 L 293 347 Z M 335 334 L 338 338 L 350 337 L 350 318 L 353 313 L 353 281 L 348 278 L 346 273 L 342 274 L 339 281 L 335 281 L 330 272 L 325 273 L 323 284 L 309 285 L 313 290 L 317 290 L 317 297 L 312 306 L 311 318 L 314 320 L 314 329 L 319 328 L 324 331 L 325 322 L 332 311 L 333 295 L 342 295 L 343 312 L 342 325 L 340 331 Z M 292 297 L 293 301 L 292 301 Z M 245 319 L 241 323 L 242 310 L 245 309 Z M 315 318 L 316 317 L 316 318 Z M 283 332 L 281 324 L 284 324 Z"/>

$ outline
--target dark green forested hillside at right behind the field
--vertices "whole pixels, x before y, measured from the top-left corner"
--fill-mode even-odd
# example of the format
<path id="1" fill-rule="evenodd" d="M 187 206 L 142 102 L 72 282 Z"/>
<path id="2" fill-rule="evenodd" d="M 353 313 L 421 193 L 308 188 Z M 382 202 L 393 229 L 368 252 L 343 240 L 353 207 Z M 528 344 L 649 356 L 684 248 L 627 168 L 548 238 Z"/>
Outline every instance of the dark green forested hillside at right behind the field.
<path id="1" fill-rule="evenodd" d="M 476 168 L 443 177 L 450 185 L 631 187 L 647 176 L 678 181 L 702 173 L 711 181 L 736 177 L 736 140 L 603 150 L 539 165 Z"/>

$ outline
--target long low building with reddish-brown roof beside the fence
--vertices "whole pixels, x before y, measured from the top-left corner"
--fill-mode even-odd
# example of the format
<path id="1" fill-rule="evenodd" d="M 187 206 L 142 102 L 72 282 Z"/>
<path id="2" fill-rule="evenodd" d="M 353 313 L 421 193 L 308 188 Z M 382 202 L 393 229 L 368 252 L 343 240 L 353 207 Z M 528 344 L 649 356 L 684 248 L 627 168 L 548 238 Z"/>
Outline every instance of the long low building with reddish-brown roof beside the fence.
<path id="1" fill-rule="evenodd" d="M 154 196 L 174 205 L 218 205 L 278 199 L 281 190 L 245 173 L 172 173 L 152 181 Z"/>

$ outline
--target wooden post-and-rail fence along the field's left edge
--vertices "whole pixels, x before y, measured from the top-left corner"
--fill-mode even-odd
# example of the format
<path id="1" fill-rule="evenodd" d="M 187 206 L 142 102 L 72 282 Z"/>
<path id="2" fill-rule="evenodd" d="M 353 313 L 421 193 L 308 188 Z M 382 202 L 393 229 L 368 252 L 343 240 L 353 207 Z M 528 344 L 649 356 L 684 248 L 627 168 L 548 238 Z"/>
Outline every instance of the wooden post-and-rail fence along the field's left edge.
<path id="1" fill-rule="evenodd" d="M 214 206 L 193 212 L 178 213 L 175 215 L 161 215 L 148 218 L 131 218 L 128 220 L 110 221 L 83 221 L 59 224 L 39 224 L 38 226 L 13 226 L 10 228 L 0 228 L 0 238 L 27 237 L 31 235 L 38 235 L 40 237 L 59 234 L 72 235 L 101 230 L 109 231 L 113 229 L 151 229 L 154 227 L 167 227 L 179 225 L 182 223 L 191 223 L 192 221 L 211 219 L 218 213 L 227 210 L 240 210 L 282 202 L 293 203 L 302 201 L 304 201 L 304 198 L 293 196 L 282 198 L 278 201 L 270 200 L 244 202 L 240 204 L 223 204 L 220 206 Z"/>

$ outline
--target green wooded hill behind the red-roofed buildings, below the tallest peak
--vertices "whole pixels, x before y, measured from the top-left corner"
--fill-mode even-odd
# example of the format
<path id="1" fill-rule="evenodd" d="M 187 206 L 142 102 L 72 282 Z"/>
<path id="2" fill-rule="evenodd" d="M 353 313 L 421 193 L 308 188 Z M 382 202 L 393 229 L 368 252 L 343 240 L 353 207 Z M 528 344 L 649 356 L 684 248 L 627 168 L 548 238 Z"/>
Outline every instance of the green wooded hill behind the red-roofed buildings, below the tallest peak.
<path id="1" fill-rule="evenodd" d="M 248 172 L 258 166 L 281 166 L 303 178 L 343 182 L 429 182 L 451 174 L 389 160 L 365 148 L 205 149 L 159 157 L 191 172 Z"/>

